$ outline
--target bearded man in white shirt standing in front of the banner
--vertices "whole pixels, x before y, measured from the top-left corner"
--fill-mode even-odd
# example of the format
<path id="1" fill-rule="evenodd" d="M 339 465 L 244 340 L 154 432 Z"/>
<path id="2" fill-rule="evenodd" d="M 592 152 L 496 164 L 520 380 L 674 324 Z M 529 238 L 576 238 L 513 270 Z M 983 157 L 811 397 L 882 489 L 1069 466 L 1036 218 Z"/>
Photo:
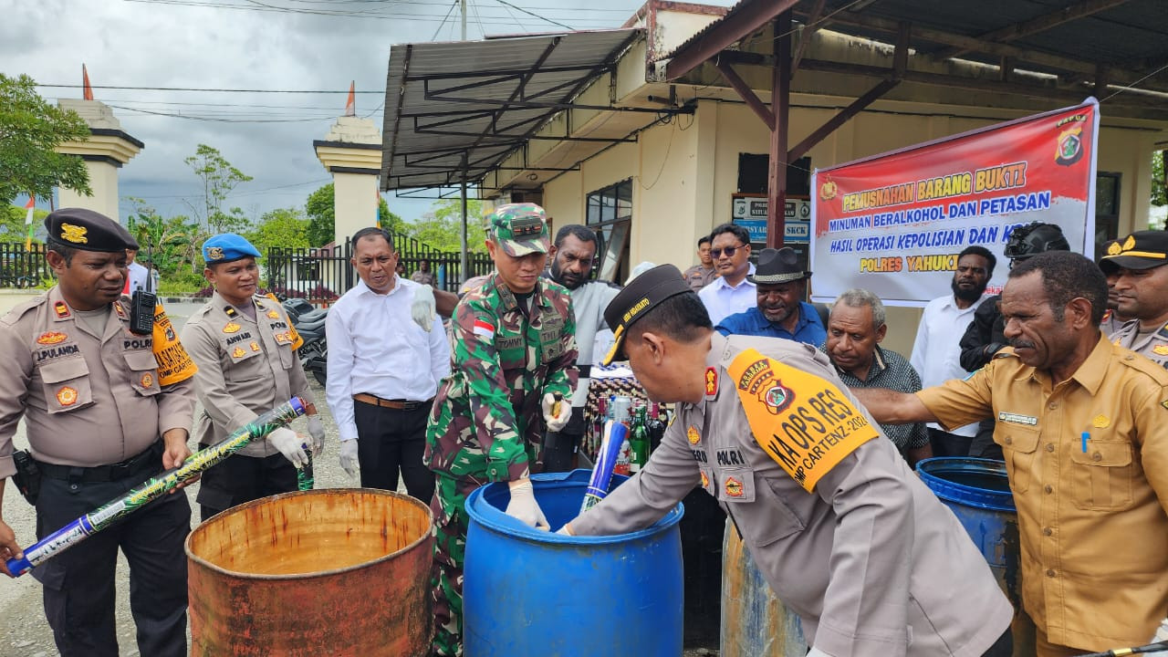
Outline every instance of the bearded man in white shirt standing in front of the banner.
<path id="1" fill-rule="evenodd" d="M 938 297 L 925 306 L 912 344 L 909 364 L 920 374 L 925 388 L 940 386 L 950 379 L 969 375 L 961 367 L 961 336 L 973 321 L 973 311 L 986 300 L 986 285 L 994 275 L 997 258 L 985 247 L 966 247 L 958 255 L 957 271 L 950 286 L 952 295 Z M 969 445 L 978 435 L 978 424 L 966 424 L 946 431 L 930 422 L 929 442 L 933 456 L 969 456 Z"/>

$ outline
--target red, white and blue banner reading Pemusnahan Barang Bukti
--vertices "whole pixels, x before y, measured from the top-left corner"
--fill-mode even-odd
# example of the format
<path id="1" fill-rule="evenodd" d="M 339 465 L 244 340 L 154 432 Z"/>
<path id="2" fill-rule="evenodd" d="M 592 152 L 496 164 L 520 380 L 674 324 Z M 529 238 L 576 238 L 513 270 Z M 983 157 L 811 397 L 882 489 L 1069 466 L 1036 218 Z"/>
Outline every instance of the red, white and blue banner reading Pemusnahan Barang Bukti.
<path id="1" fill-rule="evenodd" d="M 812 178 L 814 299 L 850 288 L 887 305 L 923 306 L 950 293 L 958 254 L 999 257 L 989 291 L 1009 270 L 1002 248 L 1017 226 L 1056 223 L 1071 249 L 1094 253 L 1099 106 L 992 125 L 818 170 Z"/>

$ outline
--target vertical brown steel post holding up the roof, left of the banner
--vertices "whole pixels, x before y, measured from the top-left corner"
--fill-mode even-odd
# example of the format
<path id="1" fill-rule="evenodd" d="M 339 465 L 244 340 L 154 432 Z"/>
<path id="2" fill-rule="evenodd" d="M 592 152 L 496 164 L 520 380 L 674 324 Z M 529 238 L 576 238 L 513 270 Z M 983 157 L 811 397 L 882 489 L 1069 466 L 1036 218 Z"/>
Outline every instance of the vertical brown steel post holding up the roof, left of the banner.
<path id="1" fill-rule="evenodd" d="M 771 108 L 774 110 L 774 130 L 771 131 L 771 157 L 766 186 L 766 245 L 783 245 L 786 233 L 787 205 L 787 131 L 791 113 L 791 11 L 787 8 L 774 20 L 774 67 L 771 85 Z"/>

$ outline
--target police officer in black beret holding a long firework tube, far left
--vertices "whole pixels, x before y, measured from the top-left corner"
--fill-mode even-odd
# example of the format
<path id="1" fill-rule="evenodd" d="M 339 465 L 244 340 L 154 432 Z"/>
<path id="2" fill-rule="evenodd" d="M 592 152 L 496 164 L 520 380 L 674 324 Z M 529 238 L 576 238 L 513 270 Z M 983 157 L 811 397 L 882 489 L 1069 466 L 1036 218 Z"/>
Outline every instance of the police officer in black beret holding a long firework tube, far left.
<path id="1" fill-rule="evenodd" d="M 54 212 L 44 223 L 57 285 L 0 319 L 0 492 L 14 472 L 12 437 L 23 416 L 42 477 L 39 538 L 182 463 L 194 408 L 194 365 L 161 306 L 153 309 L 152 334 L 130 331 L 131 304 L 121 296 L 126 249 L 137 248 L 130 234 L 77 208 Z M 190 505 L 178 492 L 34 569 L 61 655 L 117 657 L 120 548 L 139 652 L 185 656 L 182 541 L 189 531 Z M 0 570 L 11 575 L 4 561 L 18 552 L 12 528 L 0 521 Z"/>

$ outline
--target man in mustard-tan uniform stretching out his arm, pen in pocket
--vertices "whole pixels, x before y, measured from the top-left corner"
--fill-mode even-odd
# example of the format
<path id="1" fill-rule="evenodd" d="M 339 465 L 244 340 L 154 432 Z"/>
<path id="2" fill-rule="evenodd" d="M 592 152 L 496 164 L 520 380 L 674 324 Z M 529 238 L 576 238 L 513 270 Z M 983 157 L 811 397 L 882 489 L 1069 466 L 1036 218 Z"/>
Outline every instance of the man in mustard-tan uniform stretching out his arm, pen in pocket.
<path id="1" fill-rule="evenodd" d="M 1168 373 L 1099 333 L 1107 283 L 1050 251 L 1010 270 L 1013 350 L 916 394 L 854 390 L 877 422 L 994 417 L 1038 657 L 1142 645 L 1168 609 Z"/>

